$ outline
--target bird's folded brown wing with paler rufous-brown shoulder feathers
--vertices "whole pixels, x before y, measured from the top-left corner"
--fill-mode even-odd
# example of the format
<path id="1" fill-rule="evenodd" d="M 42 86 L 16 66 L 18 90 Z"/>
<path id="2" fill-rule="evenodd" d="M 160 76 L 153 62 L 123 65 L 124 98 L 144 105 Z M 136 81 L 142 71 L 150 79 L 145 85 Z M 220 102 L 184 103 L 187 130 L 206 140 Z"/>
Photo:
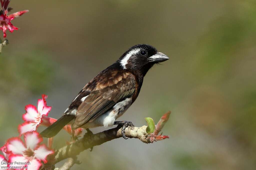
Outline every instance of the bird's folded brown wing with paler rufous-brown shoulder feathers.
<path id="1" fill-rule="evenodd" d="M 135 77 L 130 72 L 115 72 L 100 82 L 80 104 L 72 128 L 92 122 L 116 103 L 129 98 L 135 91 Z"/>

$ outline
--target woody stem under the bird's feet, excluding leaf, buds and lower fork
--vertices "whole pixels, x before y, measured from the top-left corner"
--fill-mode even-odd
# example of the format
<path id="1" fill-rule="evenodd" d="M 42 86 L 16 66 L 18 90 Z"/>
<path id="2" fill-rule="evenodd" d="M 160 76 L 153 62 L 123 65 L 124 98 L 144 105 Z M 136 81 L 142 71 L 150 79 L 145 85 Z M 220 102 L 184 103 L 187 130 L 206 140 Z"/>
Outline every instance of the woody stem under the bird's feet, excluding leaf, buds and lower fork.
<path id="1" fill-rule="evenodd" d="M 127 127 L 125 129 L 125 136 L 129 138 L 138 138 L 144 143 L 151 143 L 146 132 L 147 126 L 142 127 Z M 53 164 L 56 164 L 64 159 L 72 158 L 78 155 L 80 152 L 89 149 L 91 147 L 101 145 L 107 141 L 117 139 L 122 137 L 121 129 L 112 128 L 105 130 L 103 132 L 86 136 L 85 138 L 79 139 L 78 141 L 72 143 L 71 145 L 64 146 L 57 150 L 55 155 L 55 161 Z"/>

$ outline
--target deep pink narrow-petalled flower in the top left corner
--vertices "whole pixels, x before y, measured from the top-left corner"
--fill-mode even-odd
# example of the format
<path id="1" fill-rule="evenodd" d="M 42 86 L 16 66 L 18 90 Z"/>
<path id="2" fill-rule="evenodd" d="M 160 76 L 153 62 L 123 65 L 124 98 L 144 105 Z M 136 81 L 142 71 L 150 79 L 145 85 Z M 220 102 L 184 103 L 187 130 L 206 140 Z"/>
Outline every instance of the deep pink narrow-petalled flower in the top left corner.
<path id="1" fill-rule="evenodd" d="M 2 10 L 0 11 L 0 29 L 4 32 L 4 38 L 6 37 L 6 30 L 8 29 L 11 33 L 13 30 L 18 30 L 17 27 L 14 27 L 11 21 L 24 13 L 28 12 L 28 10 L 15 12 L 13 14 L 7 15 L 8 11 L 12 8 L 8 8 L 10 0 L 0 0 Z"/>

